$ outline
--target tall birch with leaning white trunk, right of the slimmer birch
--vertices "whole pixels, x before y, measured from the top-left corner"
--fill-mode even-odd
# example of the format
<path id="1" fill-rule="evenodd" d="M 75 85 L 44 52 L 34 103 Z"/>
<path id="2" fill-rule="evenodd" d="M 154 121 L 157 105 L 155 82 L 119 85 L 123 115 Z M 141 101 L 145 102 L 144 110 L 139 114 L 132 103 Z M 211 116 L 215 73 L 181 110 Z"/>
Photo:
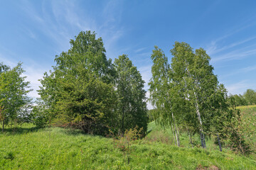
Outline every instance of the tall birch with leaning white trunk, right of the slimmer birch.
<path id="1" fill-rule="evenodd" d="M 198 118 L 198 130 L 201 135 L 201 146 L 206 148 L 207 111 L 209 108 L 208 97 L 214 94 L 218 85 L 217 77 L 213 74 L 213 67 L 209 64 L 210 57 L 202 48 L 193 52 L 193 49 L 185 42 L 175 42 L 171 50 L 174 56 L 171 69 L 174 80 L 182 84 L 186 89 L 187 100 L 191 103 L 192 111 Z"/>

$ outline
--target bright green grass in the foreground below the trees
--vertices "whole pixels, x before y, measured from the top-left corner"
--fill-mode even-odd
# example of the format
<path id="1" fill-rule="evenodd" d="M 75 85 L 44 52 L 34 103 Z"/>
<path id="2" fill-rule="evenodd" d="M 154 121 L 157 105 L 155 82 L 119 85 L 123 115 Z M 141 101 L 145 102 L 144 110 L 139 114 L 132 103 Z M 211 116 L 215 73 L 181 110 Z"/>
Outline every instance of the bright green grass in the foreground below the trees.
<path id="1" fill-rule="evenodd" d="M 24 125 L 0 135 L 0 169 L 256 169 L 255 160 L 232 152 L 178 148 L 149 138 L 135 141 L 130 157 L 127 164 L 112 139 L 79 130 Z"/>

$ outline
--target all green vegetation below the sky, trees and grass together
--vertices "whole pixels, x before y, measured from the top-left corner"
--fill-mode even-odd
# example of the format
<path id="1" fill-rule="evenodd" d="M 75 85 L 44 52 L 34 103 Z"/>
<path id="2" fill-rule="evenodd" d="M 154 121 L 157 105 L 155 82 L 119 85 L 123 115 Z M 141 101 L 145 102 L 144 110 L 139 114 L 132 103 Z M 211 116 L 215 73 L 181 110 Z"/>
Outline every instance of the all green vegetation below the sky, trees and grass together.
<path id="1" fill-rule="evenodd" d="M 256 106 L 236 108 L 256 92 L 228 97 L 202 48 L 175 42 L 169 63 L 155 46 L 147 112 L 127 55 L 107 60 L 90 31 L 70 46 L 35 103 L 21 64 L 0 63 L 0 169 L 256 169 Z"/>

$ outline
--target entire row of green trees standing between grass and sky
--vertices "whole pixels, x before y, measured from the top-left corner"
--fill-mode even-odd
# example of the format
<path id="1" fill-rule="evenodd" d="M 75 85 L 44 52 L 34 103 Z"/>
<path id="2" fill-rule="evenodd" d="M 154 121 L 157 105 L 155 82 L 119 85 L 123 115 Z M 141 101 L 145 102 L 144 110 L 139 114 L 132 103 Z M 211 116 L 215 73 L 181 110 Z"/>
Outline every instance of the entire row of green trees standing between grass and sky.
<path id="1" fill-rule="evenodd" d="M 97 135 L 124 134 L 138 127 L 145 135 L 148 120 L 155 120 L 171 128 L 177 146 L 181 132 L 187 132 L 192 147 L 193 136 L 198 135 L 203 148 L 208 137 L 215 137 L 220 150 L 225 144 L 244 152 L 237 99 L 228 97 L 218 82 L 206 51 L 175 42 L 170 52 L 171 62 L 157 46 L 151 54 L 149 101 L 154 110 L 150 115 L 137 67 L 127 55 L 107 60 L 102 38 L 96 38 L 95 32 L 80 32 L 70 40 L 67 52 L 55 56 L 53 70 L 40 79 L 41 98 L 35 103 L 27 96 L 31 89 L 21 75 L 21 63 L 13 69 L 1 63 L 2 129 L 26 120 L 38 127 L 71 127 Z"/>

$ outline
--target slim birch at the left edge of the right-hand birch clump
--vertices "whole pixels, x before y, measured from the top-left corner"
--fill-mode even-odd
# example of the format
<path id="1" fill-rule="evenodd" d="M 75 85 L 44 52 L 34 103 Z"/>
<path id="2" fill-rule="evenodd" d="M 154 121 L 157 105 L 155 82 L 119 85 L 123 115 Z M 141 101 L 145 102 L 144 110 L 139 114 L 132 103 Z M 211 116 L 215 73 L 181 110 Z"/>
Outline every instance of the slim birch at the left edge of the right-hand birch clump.
<path id="1" fill-rule="evenodd" d="M 176 145 L 180 145 L 178 135 L 178 124 L 176 112 L 176 102 L 174 100 L 175 86 L 172 81 L 172 73 L 168 59 L 164 55 L 164 52 L 155 46 L 152 51 L 151 60 L 153 66 L 151 67 L 152 78 L 149 81 L 150 101 L 153 106 L 156 107 L 156 123 L 159 123 L 164 128 L 171 127 L 174 138 L 176 139 Z M 178 97 L 178 96 L 177 96 Z"/>

